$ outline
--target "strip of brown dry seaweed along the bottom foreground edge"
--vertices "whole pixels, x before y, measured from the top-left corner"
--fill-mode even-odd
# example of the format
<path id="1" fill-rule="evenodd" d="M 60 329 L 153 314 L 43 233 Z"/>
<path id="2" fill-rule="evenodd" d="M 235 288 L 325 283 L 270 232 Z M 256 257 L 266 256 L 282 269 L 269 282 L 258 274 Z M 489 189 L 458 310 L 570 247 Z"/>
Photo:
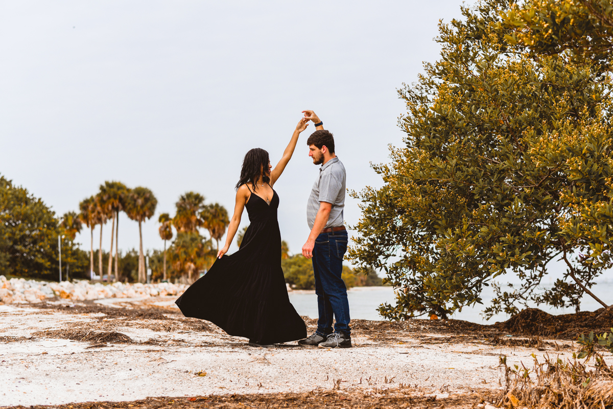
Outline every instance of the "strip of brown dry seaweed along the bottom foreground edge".
<path id="1" fill-rule="evenodd" d="M 387 389 L 364 392 L 322 391 L 307 393 L 276 394 L 231 394 L 195 397 L 148 397 L 131 402 L 83 402 L 54 405 L 54 409 L 200 409 L 200 408 L 355 408 L 355 409 L 396 409 L 396 408 L 472 408 L 484 400 L 492 401 L 492 392 L 471 392 L 452 394 L 441 399 L 424 391 Z M 12 407 L 25 408 L 21 406 Z M 47 409 L 49 406 L 30 406 L 29 409 Z M 0 409 L 5 409 L 1 408 Z"/>

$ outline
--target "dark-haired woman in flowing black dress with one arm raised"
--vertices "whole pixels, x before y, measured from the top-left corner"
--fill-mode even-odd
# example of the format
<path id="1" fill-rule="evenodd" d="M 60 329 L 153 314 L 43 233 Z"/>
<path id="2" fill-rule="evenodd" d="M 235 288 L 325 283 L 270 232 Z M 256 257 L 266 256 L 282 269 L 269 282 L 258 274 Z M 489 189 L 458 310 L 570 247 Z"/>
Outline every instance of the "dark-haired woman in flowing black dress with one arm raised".
<path id="1" fill-rule="evenodd" d="M 185 316 L 207 319 L 229 335 L 249 338 L 251 346 L 307 337 L 307 327 L 287 296 L 276 218 L 279 196 L 273 190 L 292 158 L 300 132 L 307 129 L 307 121 L 302 119 L 297 124 L 275 169 L 271 170 L 267 151 L 255 148 L 247 152 L 236 185 L 226 245 L 207 274 L 176 301 Z M 227 256 L 244 207 L 251 224 L 240 250 Z"/>

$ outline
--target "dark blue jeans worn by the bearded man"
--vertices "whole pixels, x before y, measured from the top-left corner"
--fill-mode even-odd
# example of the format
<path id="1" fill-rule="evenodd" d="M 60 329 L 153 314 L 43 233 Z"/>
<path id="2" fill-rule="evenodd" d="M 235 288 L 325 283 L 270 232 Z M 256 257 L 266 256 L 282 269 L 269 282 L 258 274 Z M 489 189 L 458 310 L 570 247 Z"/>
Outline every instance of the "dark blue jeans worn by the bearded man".
<path id="1" fill-rule="evenodd" d="M 317 321 L 319 335 L 332 334 L 332 317 L 337 320 L 334 332 L 351 335 L 347 287 L 341 278 L 347 239 L 347 231 L 322 233 L 315 239 L 313 272 L 319 308 Z"/>

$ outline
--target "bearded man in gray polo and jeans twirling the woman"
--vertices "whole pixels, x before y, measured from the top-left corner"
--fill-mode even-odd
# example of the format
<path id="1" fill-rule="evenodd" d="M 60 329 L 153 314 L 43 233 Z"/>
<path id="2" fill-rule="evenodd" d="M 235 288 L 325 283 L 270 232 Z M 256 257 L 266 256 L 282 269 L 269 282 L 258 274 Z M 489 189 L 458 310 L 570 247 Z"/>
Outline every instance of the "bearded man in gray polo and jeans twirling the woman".
<path id="1" fill-rule="evenodd" d="M 347 251 L 347 231 L 343 220 L 345 208 L 345 167 L 334 153 L 334 137 L 311 110 L 305 119 L 317 129 L 307 140 L 313 164 L 320 165 L 307 204 L 307 222 L 311 234 L 302 247 L 302 255 L 313 259 L 315 294 L 319 309 L 317 331 L 298 342 L 319 348 L 351 347 L 347 288 L 341 278 L 343 256 Z M 332 318 L 336 319 L 332 331 Z"/>

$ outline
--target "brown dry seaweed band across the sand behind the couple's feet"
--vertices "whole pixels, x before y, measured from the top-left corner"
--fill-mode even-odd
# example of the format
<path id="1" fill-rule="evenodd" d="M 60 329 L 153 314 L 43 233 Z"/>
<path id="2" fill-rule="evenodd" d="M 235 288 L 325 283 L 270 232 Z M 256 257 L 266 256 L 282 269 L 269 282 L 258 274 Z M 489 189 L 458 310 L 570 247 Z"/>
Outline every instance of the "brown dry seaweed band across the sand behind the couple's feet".
<path id="1" fill-rule="evenodd" d="M 65 313 L 103 313 L 99 321 L 110 318 L 121 321 L 122 326 L 134 326 L 152 329 L 153 331 L 175 331 L 183 329 L 188 331 L 214 332 L 215 326 L 208 321 L 195 318 L 185 318 L 180 312 L 169 308 L 143 307 L 107 307 L 105 305 L 85 302 L 67 306 L 65 304 L 37 304 L 37 308 L 53 309 Z M 353 319 L 351 321 L 352 334 L 365 335 L 378 343 L 394 343 L 399 338 L 415 334 L 455 334 L 462 336 L 479 337 L 489 340 L 490 343 L 508 346 L 540 346 L 531 345 L 533 341 L 508 341 L 501 336 L 505 334 L 521 335 L 525 337 L 547 337 L 549 339 L 574 340 L 577 335 L 590 331 L 604 332 L 609 329 L 613 321 L 613 310 L 603 316 L 603 308 L 595 312 L 579 312 L 575 314 L 550 315 L 537 308 L 527 308 L 507 321 L 495 324 L 476 324 L 460 319 L 408 319 L 406 321 L 368 321 Z M 308 331 L 314 331 L 316 319 L 302 316 L 307 324 Z M 106 322 L 109 322 L 106 321 Z M 454 340 L 447 340 L 454 341 Z M 460 339 L 457 339 L 460 341 Z M 434 340 L 433 340 L 434 342 Z M 521 345 L 520 345 L 521 344 Z"/>

